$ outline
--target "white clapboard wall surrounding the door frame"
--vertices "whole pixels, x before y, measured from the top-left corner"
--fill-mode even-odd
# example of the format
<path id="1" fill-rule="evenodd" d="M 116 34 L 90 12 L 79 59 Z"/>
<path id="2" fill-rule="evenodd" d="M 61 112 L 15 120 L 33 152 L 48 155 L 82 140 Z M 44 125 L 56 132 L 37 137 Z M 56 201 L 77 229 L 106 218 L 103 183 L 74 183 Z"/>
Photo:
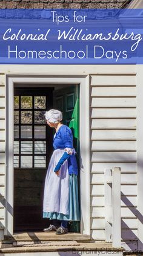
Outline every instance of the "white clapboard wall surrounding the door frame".
<path id="1" fill-rule="evenodd" d="M 57 66 L 1 66 L 5 74 L 55 75 Z M 47 71 L 48 70 L 48 71 Z M 127 74 L 126 74 L 127 72 Z M 63 74 L 63 66 L 58 74 Z M 56 76 L 58 76 L 56 73 Z M 121 167 L 122 240 L 137 236 L 135 66 L 66 65 L 64 74 L 90 76 L 91 235 L 105 240 L 104 169 Z M 5 205 L 5 75 L 0 74 L 0 227 Z"/>

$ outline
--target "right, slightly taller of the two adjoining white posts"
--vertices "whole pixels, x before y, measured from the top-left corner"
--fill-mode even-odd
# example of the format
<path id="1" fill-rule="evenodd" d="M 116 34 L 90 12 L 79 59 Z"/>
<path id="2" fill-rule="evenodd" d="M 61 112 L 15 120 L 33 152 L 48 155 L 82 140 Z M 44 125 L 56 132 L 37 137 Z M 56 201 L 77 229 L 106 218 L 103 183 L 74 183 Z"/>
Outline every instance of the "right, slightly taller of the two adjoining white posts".
<path id="1" fill-rule="evenodd" d="M 113 204 L 113 224 L 112 236 L 113 247 L 121 247 L 121 168 L 113 168 L 112 182 L 112 204 Z"/>

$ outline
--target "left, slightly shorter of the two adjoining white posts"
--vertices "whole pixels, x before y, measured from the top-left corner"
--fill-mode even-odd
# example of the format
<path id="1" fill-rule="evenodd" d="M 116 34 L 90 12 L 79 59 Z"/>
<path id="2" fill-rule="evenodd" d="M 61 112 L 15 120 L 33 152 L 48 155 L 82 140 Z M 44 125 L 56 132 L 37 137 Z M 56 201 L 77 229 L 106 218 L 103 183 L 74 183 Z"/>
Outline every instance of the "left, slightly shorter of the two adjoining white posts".
<path id="1" fill-rule="evenodd" d="M 111 202 L 111 186 L 112 177 L 111 169 L 104 171 L 105 183 L 105 241 L 112 241 L 112 202 Z"/>

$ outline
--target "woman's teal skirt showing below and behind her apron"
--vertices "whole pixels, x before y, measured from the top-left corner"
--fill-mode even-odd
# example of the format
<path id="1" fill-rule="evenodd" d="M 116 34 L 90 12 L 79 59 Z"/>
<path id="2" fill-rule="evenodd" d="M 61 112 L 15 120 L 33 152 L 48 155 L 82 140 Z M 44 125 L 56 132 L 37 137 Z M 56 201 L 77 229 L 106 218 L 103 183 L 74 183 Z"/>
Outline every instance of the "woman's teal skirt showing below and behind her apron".
<path id="1" fill-rule="evenodd" d="M 75 174 L 69 175 L 69 214 L 43 212 L 43 218 L 59 219 L 64 221 L 80 221 L 78 201 L 78 177 Z"/>

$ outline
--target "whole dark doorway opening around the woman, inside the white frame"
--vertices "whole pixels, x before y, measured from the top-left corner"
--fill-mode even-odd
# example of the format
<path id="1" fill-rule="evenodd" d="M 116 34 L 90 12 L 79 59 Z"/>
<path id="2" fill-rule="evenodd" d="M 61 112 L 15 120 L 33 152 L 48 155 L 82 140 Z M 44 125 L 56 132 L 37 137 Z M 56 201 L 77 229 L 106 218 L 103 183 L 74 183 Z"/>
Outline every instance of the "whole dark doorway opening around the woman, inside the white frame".
<path id="1" fill-rule="evenodd" d="M 14 94 L 13 232 L 42 231 L 52 223 L 42 218 L 42 199 L 55 133 L 45 124 L 44 113 L 50 108 L 62 111 L 63 124 L 71 128 L 74 146 L 79 152 L 79 86 L 39 85 L 35 87 L 21 84 L 15 86 Z M 79 154 L 77 156 L 79 164 Z M 79 232 L 79 222 L 68 222 L 68 229 L 70 232 Z"/>

